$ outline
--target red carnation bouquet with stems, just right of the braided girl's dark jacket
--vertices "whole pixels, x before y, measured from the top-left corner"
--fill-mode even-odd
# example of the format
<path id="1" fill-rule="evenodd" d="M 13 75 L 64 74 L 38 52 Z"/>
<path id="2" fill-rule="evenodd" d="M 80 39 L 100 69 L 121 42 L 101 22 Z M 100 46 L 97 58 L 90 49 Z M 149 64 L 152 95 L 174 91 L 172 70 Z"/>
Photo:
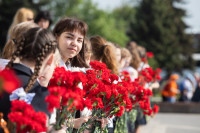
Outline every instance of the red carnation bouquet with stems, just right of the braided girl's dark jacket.
<path id="1" fill-rule="evenodd" d="M 48 110 L 53 112 L 56 109 L 55 130 L 66 125 L 67 131 L 72 132 L 76 111 L 83 110 L 85 103 L 87 106 L 87 99 L 83 99 L 85 91 L 82 89 L 86 82 L 82 72 L 66 71 L 63 67 L 55 69 L 48 86 L 50 95 L 46 97 Z"/>

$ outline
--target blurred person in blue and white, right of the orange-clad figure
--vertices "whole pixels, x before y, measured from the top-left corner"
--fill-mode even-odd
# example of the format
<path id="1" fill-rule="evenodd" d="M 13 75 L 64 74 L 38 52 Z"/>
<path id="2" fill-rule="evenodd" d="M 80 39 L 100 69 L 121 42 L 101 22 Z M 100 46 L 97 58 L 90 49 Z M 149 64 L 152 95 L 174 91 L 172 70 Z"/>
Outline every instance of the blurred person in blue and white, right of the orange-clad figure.
<path id="1" fill-rule="evenodd" d="M 188 73 L 185 79 L 180 84 L 180 99 L 181 102 L 191 101 L 195 91 L 196 80 L 192 74 Z"/>

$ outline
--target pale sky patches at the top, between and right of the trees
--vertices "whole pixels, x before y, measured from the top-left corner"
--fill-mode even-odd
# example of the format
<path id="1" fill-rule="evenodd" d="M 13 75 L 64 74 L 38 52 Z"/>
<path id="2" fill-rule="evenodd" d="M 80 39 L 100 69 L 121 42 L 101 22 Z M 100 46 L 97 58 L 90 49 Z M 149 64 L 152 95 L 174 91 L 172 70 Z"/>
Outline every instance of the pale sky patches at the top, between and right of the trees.
<path id="1" fill-rule="evenodd" d="M 128 0 L 93 0 L 98 7 L 105 10 L 112 10 Z M 138 0 L 132 0 L 138 1 Z M 185 0 L 185 4 L 179 5 L 186 9 L 187 17 L 184 18 L 186 24 L 190 26 L 186 30 L 188 33 L 200 33 L 200 0 Z"/>

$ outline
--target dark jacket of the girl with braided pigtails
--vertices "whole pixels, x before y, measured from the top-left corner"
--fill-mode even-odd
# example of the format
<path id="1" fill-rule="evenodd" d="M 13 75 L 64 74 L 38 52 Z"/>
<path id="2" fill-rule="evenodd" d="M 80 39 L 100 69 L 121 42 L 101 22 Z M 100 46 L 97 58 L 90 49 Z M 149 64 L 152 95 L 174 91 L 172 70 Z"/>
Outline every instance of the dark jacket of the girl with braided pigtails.
<path id="1" fill-rule="evenodd" d="M 17 77 L 21 81 L 23 88 L 26 88 L 29 78 L 33 74 L 30 68 L 25 65 L 14 63 L 13 70 L 16 72 Z M 38 81 L 33 85 L 29 93 L 36 93 L 31 105 L 35 111 L 41 111 L 50 116 L 49 111 L 47 110 L 47 103 L 45 102 L 45 97 L 49 95 L 49 91 L 46 87 L 42 87 Z M 4 119 L 7 120 L 7 115 L 10 112 L 11 102 L 9 100 L 9 94 L 5 93 L 0 99 L 0 112 L 4 113 Z"/>

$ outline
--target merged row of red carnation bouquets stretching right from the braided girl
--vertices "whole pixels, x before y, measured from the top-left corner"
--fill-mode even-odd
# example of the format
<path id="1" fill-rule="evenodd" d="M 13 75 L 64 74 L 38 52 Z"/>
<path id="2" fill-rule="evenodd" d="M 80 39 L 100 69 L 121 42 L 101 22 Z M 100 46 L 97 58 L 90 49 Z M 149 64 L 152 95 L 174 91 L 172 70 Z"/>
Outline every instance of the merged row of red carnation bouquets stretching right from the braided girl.
<path id="1" fill-rule="evenodd" d="M 46 97 L 46 102 L 49 103 L 50 112 L 56 109 L 56 130 L 66 125 L 67 131 L 72 132 L 75 113 L 84 108 L 90 110 L 90 119 L 76 132 L 85 129 L 102 132 L 102 119 L 120 117 L 124 111 L 135 109 L 139 103 L 143 110 L 150 112 L 147 97 L 152 93 L 144 89 L 139 80 L 132 83 L 130 77 L 124 74 L 120 81 L 104 63 L 92 61 L 90 65 L 91 69 L 86 73 L 66 71 L 63 67 L 55 69 L 48 86 L 50 95 Z"/>

